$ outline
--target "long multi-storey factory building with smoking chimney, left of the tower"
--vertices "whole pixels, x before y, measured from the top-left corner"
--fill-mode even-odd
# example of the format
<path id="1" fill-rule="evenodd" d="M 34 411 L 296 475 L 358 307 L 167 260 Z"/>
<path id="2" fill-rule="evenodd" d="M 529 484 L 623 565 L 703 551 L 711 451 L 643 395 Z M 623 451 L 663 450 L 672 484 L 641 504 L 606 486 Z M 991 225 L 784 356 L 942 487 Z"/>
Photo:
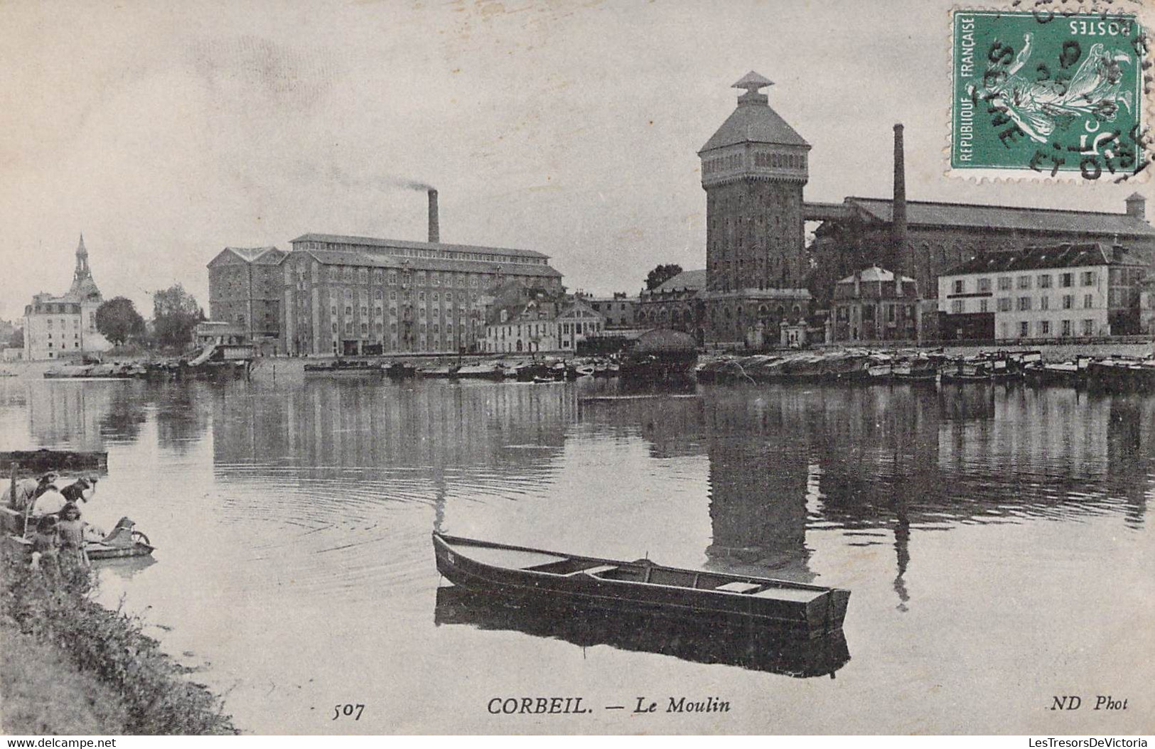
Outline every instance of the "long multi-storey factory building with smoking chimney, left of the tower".
<path id="1" fill-rule="evenodd" d="M 491 290 L 515 282 L 561 292 L 547 255 L 439 241 L 437 192 L 429 197 L 427 242 L 312 233 L 292 240 L 282 263 L 285 352 L 477 351 Z"/>

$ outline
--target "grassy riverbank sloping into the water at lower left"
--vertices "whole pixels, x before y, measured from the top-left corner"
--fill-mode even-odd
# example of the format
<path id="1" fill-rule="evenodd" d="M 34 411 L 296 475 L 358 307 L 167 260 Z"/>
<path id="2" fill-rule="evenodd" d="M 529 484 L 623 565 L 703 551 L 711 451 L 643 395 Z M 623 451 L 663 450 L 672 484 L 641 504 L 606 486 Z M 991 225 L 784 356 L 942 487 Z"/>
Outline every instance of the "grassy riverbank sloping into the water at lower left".
<path id="1" fill-rule="evenodd" d="M 91 575 L 52 583 L 3 553 L 0 585 L 6 733 L 237 733 L 140 620 L 91 600 Z"/>

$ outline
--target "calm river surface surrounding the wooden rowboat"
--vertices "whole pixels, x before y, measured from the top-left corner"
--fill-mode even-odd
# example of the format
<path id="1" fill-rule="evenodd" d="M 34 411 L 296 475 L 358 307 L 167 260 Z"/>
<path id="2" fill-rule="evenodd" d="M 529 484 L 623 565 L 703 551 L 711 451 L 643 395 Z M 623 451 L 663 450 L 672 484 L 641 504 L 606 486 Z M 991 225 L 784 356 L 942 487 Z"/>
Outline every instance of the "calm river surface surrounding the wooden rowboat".
<path id="1" fill-rule="evenodd" d="M 1022 387 L 0 381 L 104 449 L 102 568 L 255 733 L 1152 731 L 1155 399 Z M 430 531 L 852 591 L 844 642 L 578 626 L 439 590 Z M 761 649 L 761 650 L 758 650 Z M 1052 695 L 1128 710 L 1048 710 Z M 491 716 L 581 696 L 581 716 Z M 647 696 L 726 714 L 631 716 Z M 364 703 L 359 721 L 333 721 Z"/>

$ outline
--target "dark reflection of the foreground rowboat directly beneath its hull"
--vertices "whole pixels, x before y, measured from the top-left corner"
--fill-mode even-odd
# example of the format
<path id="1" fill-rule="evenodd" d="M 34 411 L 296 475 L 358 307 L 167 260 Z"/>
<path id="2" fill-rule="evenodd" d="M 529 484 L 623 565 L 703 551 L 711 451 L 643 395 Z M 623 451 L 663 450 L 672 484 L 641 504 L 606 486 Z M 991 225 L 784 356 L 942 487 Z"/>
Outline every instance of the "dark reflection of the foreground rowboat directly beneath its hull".
<path id="1" fill-rule="evenodd" d="M 478 629 L 509 630 L 565 641 L 581 647 L 658 653 L 698 664 L 723 664 L 789 676 L 834 677 L 850 660 L 839 631 L 818 639 L 791 637 L 770 629 L 724 629 L 694 626 L 653 615 L 575 611 L 564 606 L 493 602 L 457 586 L 437 589 L 433 621 Z"/>

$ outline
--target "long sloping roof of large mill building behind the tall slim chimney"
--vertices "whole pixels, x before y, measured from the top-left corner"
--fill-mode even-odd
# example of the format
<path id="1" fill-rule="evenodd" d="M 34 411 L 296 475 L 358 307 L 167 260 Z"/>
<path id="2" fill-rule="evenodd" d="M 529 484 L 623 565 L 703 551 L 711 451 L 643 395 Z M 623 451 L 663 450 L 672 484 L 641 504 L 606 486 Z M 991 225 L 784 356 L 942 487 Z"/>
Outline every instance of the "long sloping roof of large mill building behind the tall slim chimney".
<path id="1" fill-rule="evenodd" d="M 851 196 L 847 197 L 845 202 L 869 218 L 886 224 L 892 220 L 894 201 L 889 197 Z M 907 201 L 907 224 L 909 226 L 967 226 L 988 230 L 1155 237 L 1155 226 L 1126 214 L 931 201 Z"/>

